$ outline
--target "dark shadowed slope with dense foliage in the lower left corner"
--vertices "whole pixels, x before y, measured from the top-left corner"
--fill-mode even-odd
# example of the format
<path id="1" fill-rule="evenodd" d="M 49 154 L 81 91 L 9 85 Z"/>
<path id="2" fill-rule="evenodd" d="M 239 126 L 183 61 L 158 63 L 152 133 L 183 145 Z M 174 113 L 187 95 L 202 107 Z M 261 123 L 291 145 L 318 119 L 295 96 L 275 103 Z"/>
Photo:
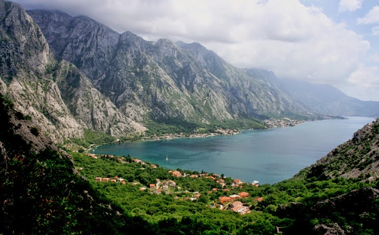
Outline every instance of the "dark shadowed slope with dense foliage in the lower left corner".
<path id="1" fill-rule="evenodd" d="M 12 107 L 0 97 L 0 233 L 128 234 L 132 218 L 100 200 L 72 157 Z"/>

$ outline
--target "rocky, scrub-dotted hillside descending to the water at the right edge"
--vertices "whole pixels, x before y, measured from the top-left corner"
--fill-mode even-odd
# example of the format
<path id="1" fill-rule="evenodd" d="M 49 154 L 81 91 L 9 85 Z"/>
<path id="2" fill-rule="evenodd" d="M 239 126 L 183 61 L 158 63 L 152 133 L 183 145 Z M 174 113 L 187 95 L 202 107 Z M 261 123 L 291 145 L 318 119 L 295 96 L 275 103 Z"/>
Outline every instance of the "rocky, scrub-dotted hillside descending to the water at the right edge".
<path id="1" fill-rule="evenodd" d="M 376 180 L 379 178 L 379 119 L 354 133 L 352 139 L 332 150 L 298 176 L 318 179 L 338 176 Z"/>

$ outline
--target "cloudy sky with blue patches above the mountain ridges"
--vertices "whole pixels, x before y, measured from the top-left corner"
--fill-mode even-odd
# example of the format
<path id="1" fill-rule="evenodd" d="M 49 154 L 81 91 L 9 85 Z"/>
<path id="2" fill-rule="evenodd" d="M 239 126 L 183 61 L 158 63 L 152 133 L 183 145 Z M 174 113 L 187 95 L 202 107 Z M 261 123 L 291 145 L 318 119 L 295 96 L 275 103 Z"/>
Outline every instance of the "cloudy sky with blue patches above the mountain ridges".
<path id="1" fill-rule="evenodd" d="M 379 101 L 379 0 L 14 0 Z"/>

